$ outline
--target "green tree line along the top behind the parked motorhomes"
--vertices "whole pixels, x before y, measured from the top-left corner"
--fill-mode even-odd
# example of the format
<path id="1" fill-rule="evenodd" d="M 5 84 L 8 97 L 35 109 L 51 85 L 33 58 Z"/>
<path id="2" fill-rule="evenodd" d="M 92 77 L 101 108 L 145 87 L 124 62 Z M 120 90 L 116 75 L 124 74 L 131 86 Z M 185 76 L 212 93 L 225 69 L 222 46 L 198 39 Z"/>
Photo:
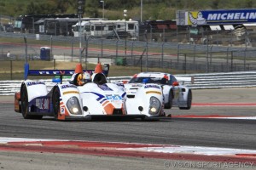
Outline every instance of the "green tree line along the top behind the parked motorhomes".
<path id="1" fill-rule="evenodd" d="M 139 19 L 143 2 L 143 20 L 172 20 L 177 10 L 256 8 L 255 0 L 104 0 L 105 17 L 117 20 L 124 9 L 129 18 Z M 1 0 L 0 14 L 77 14 L 77 0 Z M 85 0 L 84 17 L 102 17 L 100 0 Z"/>

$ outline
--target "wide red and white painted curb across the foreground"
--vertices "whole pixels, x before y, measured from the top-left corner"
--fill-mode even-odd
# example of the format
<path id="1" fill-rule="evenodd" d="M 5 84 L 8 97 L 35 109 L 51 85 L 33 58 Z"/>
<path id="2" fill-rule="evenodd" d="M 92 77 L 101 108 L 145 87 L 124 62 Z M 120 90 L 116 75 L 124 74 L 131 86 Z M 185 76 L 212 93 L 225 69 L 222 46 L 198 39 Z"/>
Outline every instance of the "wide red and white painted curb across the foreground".
<path id="1" fill-rule="evenodd" d="M 166 160 L 236 161 L 256 165 L 256 150 L 172 144 L 137 144 L 79 140 L 1 138 L 0 150 L 128 156 Z"/>

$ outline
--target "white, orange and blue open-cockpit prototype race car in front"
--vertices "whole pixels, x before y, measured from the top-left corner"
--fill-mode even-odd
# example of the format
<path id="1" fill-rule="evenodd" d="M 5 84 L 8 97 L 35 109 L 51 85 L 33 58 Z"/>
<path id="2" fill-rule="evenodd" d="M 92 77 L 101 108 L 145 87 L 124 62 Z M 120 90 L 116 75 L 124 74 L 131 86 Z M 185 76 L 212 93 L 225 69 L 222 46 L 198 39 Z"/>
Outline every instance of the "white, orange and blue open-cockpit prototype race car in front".
<path id="1" fill-rule="evenodd" d="M 145 118 L 163 115 L 162 94 L 160 94 L 159 88 L 155 88 L 156 85 L 145 88 L 144 95 L 141 95 L 145 101 L 141 105 L 135 105 L 137 98 L 126 99 L 125 88 L 107 82 L 106 75 L 108 76 L 109 65 L 105 66 L 105 74 L 102 73 L 102 65 L 100 64 L 96 66 L 95 71 L 83 71 L 82 65 L 79 67 L 80 69 L 76 68 L 76 71 L 37 71 L 29 70 L 29 66 L 26 65 L 25 77 L 28 75 L 58 75 L 61 77 L 73 75 L 73 77 L 71 82 L 66 83 L 62 83 L 61 78 L 61 81 L 55 83 L 50 90 L 43 80 L 25 80 L 21 83 L 20 92 L 15 94 L 15 111 L 22 113 L 25 119 L 54 116 L 56 120 L 90 120 L 93 116 Z M 90 72 L 92 82 L 77 82 L 79 75 L 84 72 Z M 153 95 L 149 97 L 148 91 L 153 92 Z"/>

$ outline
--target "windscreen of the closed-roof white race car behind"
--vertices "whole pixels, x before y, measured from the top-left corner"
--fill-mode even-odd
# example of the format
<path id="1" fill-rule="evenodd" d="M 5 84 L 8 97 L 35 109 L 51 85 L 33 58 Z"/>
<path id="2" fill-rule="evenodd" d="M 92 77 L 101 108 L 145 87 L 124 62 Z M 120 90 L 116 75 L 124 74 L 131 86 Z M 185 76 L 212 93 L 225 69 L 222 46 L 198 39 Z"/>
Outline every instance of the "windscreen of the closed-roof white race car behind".
<path id="1" fill-rule="evenodd" d="M 155 83 L 167 84 L 168 81 L 163 77 L 133 77 L 128 83 Z"/>

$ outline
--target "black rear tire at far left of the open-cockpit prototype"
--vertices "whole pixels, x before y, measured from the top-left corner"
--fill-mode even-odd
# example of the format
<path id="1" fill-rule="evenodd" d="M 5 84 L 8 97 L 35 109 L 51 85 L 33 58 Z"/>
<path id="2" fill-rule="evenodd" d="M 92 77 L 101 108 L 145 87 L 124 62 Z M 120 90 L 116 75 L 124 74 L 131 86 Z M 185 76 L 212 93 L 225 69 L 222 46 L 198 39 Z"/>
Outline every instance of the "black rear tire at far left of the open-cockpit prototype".
<path id="1" fill-rule="evenodd" d="M 20 103 L 20 110 L 24 119 L 42 119 L 43 116 L 41 115 L 29 115 L 27 89 L 25 85 L 20 90 Z"/>

